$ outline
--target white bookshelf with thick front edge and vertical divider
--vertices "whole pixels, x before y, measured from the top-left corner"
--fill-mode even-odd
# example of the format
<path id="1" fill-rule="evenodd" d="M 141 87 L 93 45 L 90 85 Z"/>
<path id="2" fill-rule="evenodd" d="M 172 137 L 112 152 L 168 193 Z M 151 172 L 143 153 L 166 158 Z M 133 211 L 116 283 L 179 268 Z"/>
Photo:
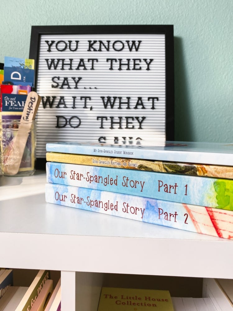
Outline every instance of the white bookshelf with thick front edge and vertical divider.
<path id="1" fill-rule="evenodd" d="M 96 310 L 105 273 L 233 278 L 233 241 L 46 203 L 45 183 L 0 177 L 0 266 L 61 271 L 64 310 Z"/>

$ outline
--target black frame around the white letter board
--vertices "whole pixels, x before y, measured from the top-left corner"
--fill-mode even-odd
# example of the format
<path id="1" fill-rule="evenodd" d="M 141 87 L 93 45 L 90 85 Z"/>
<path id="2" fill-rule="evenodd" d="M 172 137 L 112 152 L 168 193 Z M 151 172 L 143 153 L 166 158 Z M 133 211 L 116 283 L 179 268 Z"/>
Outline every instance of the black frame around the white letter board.
<path id="1" fill-rule="evenodd" d="M 35 60 L 34 90 L 39 82 L 40 41 L 42 35 L 159 35 L 165 36 L 165 101 L 166 140 L 174 140 L 174 35 L 173 25 L 80 25 L 80 26 L 32 26 L 29 58 Z M 42 95 L 43 94 L 39 94 Z M 44 155 L 45 157 L 45 155 Z M 37 168 L 43 168 L 45 159 L 37 156 Z"/>

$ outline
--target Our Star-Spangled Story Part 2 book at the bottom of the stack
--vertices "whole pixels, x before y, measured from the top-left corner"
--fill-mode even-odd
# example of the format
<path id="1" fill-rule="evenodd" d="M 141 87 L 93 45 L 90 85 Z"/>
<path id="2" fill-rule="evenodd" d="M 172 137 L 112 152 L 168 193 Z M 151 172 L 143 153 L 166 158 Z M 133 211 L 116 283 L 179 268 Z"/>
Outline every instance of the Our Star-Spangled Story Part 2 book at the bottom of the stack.
<path id="1" fill-rule="evenodd" d="M 232 211 L 54 183 L 45 185 L 45 200 L 66 207 L 233 239 Z"/>

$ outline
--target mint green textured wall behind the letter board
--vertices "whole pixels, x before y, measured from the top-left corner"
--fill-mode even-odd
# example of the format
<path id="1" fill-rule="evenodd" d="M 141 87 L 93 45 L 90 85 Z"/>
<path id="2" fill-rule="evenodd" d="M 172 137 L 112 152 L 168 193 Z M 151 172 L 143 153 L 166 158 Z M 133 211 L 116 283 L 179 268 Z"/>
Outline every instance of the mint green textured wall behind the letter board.
<path id="1" fill-rule="evenodd" d="M 31 26 L 173 24 L 175 138 L 233 142 L 233 0 L 8 0 L 0 62 L 29 56 Z"/>

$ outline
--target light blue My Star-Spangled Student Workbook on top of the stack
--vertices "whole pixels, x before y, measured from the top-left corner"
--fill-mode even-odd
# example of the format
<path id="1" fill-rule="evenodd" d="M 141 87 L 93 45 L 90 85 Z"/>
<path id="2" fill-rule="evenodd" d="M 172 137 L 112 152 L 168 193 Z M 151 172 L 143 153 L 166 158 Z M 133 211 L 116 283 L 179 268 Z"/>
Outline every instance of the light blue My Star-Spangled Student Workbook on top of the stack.
<path id="1" fill-rule="evenodd" d="M 46 144 L 46 151 L 233 166 L 233 143 L 167 141 L 164 146 L 154 146 L 144 141 L 134 145 L 54 142 Z"/>

